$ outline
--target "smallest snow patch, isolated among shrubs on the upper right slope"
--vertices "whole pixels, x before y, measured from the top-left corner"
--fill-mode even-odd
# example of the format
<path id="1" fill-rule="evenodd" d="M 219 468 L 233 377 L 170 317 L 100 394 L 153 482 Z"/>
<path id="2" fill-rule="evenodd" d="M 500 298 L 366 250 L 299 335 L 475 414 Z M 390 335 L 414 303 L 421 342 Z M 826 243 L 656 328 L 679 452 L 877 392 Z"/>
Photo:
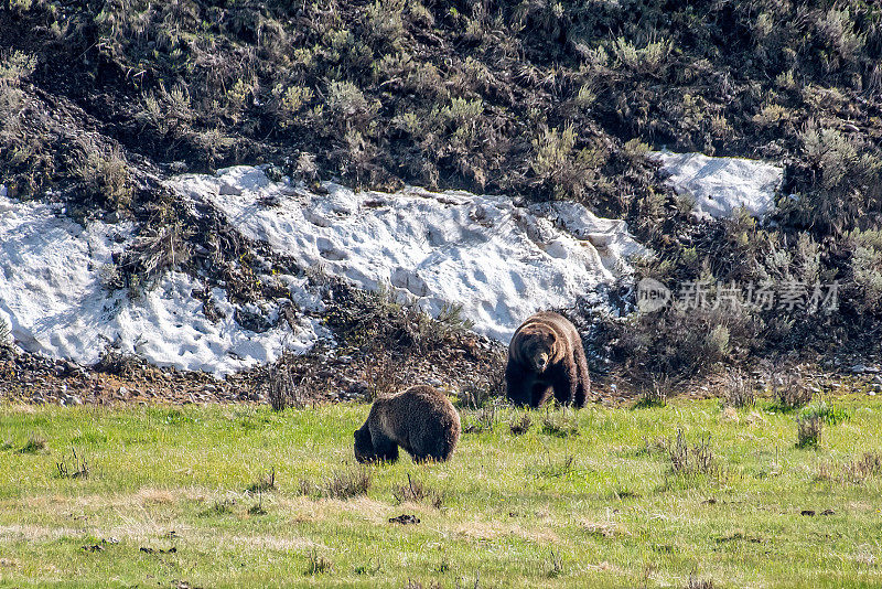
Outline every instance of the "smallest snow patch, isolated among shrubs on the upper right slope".
<path id="1" fill-rule="evenodd" d="M 775 192 L 784 169 L 760 160 L 711 158 L 701 153 L 657 151 L 667 183 L 678 194 L 695 197 L 693 211 L 700 216 L 731 217 L 739 207 L 763 217 L 775 207 Z"/>

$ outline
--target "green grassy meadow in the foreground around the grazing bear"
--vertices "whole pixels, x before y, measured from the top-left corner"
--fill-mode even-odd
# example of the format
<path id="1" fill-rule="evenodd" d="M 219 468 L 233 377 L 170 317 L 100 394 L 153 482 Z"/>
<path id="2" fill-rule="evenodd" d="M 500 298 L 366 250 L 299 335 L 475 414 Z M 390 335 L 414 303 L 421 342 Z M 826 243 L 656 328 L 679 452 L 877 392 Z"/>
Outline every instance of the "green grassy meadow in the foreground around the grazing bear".
<path id="1" fill-rule="evenodd" d="M 366 496 L 334 500 L 366 405 L 0 406 L 0 586 L 876 587 L 882 476 L 840 474 L 880 450 L 882 401 L 837 407 L 811 450 L 762 404 L 590 407 L 566 436 L 545 411 L 515 436 L 523 413 L 502 409 L 449 463 L 370 467 Z M 673 472 L 678 428 L 689 451 L 710 435 L 716 469 Z M 58 475 L 72 449 L 87 476 Z M 275 490 L 246 492 L 273 468 Z M 440 508 L 396 501 L 408 475 Z"/>

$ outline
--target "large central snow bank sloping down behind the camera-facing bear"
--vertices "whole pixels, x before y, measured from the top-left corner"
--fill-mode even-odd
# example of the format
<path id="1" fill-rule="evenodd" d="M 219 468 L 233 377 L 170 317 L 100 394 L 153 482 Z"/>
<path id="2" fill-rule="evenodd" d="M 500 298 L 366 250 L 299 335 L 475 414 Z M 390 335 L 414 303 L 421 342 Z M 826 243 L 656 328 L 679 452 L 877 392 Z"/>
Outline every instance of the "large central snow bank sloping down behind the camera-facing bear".
<path id="1" fill-rule="evenodd" d="M 433 315 L 461 306 L 475 331 L 504 342 L 533 312 L 571 306 L 644 251 L 624 222 L 573 203 L 525 208 L 503 196 L 353 192 L 333 183 L 318 194 L 250 167 L 171 184 L 304 267 L 367 289 L 390 285 Z"/>

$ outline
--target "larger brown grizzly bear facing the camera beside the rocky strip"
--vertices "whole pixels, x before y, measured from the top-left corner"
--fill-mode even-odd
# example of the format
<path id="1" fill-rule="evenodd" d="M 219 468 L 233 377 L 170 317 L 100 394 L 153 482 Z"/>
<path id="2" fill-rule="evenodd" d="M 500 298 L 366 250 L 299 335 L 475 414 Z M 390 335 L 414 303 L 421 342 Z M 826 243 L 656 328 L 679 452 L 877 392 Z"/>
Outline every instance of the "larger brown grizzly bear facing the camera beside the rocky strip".
<path id="1" fill-rule="evenodd" d="M 508 344 L 505 385 L 518 405 L 539 407 L 553 395 L 561 404 L 584 406 L 591 379 L 576 326 L 550 311 L 527 318 Z"/>

